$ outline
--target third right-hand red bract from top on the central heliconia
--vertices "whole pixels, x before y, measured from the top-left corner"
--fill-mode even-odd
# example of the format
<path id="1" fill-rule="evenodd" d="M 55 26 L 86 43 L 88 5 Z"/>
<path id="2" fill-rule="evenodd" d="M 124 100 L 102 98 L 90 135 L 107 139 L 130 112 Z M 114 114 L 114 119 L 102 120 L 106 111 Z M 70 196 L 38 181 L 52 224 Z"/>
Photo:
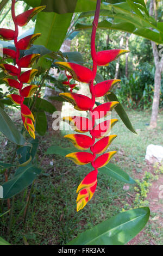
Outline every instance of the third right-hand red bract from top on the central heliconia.
<path id="1" fill-rule="evenodd" d="M 118 101 L 110 101 L 101 104 L 93 109 L 92 115 L 95 119 L 106 117 L 106 115 L 108 115 L 112 108 L 116 107 L 118 103 Z"/>

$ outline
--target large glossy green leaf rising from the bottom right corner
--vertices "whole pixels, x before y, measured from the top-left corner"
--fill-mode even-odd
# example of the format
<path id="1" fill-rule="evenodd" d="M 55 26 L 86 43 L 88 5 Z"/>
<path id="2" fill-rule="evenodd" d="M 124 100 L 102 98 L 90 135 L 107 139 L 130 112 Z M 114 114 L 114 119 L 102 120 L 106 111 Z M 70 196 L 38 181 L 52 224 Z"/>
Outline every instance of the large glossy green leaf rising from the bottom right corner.
<path id="1" fill-rule="evenodd" d="M 148 207 L 121 212 L 86 230 L 68 245 L 125 245 L 145 227 L 149 215 Z"/>

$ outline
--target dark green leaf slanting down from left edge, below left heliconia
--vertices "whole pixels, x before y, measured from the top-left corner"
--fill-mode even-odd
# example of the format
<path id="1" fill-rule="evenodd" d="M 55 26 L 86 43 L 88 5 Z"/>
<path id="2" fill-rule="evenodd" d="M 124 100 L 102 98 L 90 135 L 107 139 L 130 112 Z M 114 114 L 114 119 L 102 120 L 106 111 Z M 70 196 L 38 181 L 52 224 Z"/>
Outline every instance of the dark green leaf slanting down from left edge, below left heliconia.
<path id="1" fill-rule="evenodd" d="M 17 130 L 12 120 L 0 107 L 0 132 L 4 134 L 11 142 L 18 145 L 27 144 L 20 131 Z"/>

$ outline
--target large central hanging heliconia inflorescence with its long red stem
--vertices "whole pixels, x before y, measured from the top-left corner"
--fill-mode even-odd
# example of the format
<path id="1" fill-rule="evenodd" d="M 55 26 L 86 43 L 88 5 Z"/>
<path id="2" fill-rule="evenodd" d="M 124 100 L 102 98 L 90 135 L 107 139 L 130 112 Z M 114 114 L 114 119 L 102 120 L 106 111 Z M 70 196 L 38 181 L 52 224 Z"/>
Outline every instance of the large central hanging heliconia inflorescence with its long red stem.
<path id="1" fill-rule="evenodd" d="M 91 99 L 87 96 L 76 93 L 61 93 L 60 95 L 74 105 L 75 109 L 79 111 L 89 111 L 90 119 L 85 117 L 64 117 L 64 121 L 67 121 L 74 127 L 74 131 L 80 134 L 69 134 L 64 136 L 74 144 L 74 147 L 80 150 L 90 149 L 91 153 L 87 152 L 74 152 L 66 155 L 69 159 L 73 160 L 77 164 L 91 163 L 93 170 L 85 176 L 80 185 L 77 188 L 77 211 L 82 210 L 84 206 L 92 198 L 96 186 L 97 186 L 97 174 L 98 168 L 105 166 L 116 151 L 110 151 L 104 153 L 109 144 L 116 137 L 116 135 L 108 135 L 111 127 L 117 122 L 117 119 L 105 120 L 102 123 L 95 125 L 95 120 L 106 117 L 109 111 L 114 108 L 118 102 L 106 102 L 95 108 L 96 97 L 102 97 L 109 93 L 109 90 L 116 82 L 120 80 L 107 80 L 101 83 L 97 83 L 94 86 L 94 80 L 96 77 L 97 66 L 108 65 L 117 57 L 123 53 L 129 52 L 128 50 L 108 50 L 96 52 L 95 37 L 98 26 L 99 10 L 101 0 L 97 0 L 95 17 L 93 20 L 92 35 L 91 35 L 91 56 L 93 60 L 92 70 L 75 63 L 70 62 L 55 62 L 56 65 L 65 68 L 70 72 L 74 80 L 89 83 Z M 90 132 L 90 136 L 83 135 L 81 133 Z M 105 137 L 106 136 L 106 137 Z M 99 139 L 95 143 L 95 139 Z M 104 153 L 104 154 L 102 154 Z M 96 154 L 101 154 L 96 158 Z"/>

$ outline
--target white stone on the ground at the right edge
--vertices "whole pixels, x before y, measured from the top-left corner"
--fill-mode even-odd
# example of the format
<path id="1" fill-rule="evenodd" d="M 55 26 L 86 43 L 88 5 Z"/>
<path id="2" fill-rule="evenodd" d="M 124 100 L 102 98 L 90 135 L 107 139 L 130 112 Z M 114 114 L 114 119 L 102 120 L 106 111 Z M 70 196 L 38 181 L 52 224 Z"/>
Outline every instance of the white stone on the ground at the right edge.
<path id="1" fill-rule="evenodd" d="M 163 161 L 163 147 L 159 145 L 153 145 L 153 144 L 148 145 L 145 159 L 151 163 L 156 161 L 158 162 Z"/>

